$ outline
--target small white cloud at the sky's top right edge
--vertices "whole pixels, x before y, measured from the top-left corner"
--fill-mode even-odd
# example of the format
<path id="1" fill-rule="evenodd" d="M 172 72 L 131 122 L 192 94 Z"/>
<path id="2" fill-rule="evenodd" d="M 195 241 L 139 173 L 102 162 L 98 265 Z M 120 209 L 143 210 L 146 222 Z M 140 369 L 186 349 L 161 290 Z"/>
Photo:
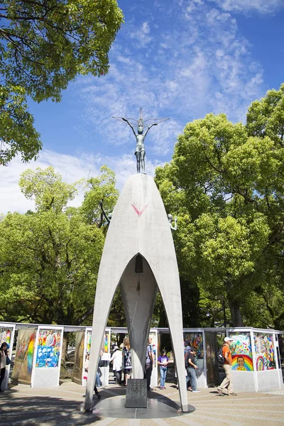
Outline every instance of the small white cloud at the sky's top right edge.
<path id="1" fill-rule="evenodd" d="M 224 11 L 244 13 L 253 12 L 273 14 L 284 7 L 283 0 L 213 0 Z"/>

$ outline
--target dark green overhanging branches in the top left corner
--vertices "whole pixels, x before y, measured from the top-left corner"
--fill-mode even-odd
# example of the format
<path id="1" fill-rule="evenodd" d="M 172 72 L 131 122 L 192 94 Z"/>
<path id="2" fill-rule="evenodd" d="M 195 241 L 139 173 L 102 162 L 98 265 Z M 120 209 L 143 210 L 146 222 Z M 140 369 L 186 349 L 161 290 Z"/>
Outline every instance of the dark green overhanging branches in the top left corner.
<path id="1" fill-rule="evenodd" d="M 123 22 L 116 0 L 11 0 L 0 9 L 0 164 L 36 157 L 39 134 L 28 113 L 35 102 L 60 101 L 78 74 L 105 75 Z"/>

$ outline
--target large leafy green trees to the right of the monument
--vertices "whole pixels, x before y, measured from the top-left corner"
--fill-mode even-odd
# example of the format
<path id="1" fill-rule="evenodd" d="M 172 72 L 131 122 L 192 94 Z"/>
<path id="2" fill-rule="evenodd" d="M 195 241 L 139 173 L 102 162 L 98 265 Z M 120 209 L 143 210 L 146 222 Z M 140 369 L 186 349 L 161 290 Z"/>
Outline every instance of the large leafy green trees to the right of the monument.
<path id="1" fill-rule="evenodd" d="M 180 274 L 219 300 L 220 312 L 225 298 L 234 326 L 252 320 L 247 307 L 256 297 L 262 324 L 283 324 L 283 310 L 276 314 L 279 304 L 267 297 L 275 286 L 276 299 L 284 295 L 283 93 L 284 85 L 253 102 L 246 126 L 224 114 L 187 124 L 171 163 L 156 170 L 165 207 L 179 217 Z"/>

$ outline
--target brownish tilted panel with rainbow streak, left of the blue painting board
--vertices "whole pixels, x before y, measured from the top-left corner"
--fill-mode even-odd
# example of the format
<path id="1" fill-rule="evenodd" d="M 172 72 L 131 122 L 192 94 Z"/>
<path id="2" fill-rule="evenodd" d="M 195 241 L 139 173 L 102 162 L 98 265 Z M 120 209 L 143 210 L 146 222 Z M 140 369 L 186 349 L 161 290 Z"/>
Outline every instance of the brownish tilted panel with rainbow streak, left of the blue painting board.
<path id="1" fill-rule="evenodd" d="M 13 381 L 31 384 L 31 370 L 35 349 L 36 329 L 20 329 L 16 346 L 15 362 L 13 366 Z"/>

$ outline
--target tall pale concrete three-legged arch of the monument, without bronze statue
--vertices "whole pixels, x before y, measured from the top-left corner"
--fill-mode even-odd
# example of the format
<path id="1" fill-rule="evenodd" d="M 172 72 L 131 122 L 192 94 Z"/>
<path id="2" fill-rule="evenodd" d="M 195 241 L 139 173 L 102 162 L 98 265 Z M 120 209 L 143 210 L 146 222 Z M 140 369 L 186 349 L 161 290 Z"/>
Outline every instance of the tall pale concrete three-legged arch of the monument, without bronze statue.
<path id="1" fill-rule="evenodd" d="M 140 274 L 135 272 L 138 253 L 143 257 Z M 118 285 L 126 311 L 134 378 L 143 378 L 155 295 L 160 290 L 175 354 L 181 408 L 187 411 L 178 263 L 163 201 L 148 175 L 132 175 L 126 181 L 107 231 L 94 302 L 86 410 L 92 408 L 99 350 Z"/>

